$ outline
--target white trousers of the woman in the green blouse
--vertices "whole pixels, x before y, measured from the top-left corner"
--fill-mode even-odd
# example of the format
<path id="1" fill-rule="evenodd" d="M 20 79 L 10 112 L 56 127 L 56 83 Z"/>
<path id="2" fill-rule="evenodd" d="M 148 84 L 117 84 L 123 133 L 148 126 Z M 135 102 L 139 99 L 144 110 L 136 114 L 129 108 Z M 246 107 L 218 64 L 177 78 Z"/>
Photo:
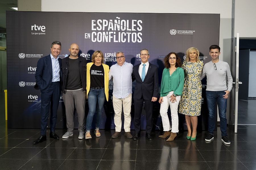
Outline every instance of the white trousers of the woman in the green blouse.
<path id="1" fill-rule="evenodd" d="M 179 118 L 178 118 L 178 106 L 180 96 L 176 96 L 176 100 L 172 103 L 170 100 L 170 96 L 173 94 L 174 91 L 171 91 L 167 94 L 167 96 L 163 97 L 163 102 L 160 105 L 160 115 L 162 117 L 162 123 L 164 131 L 172 130 L 171 132 L 176 133 L 179 132 Z M 170 121 L 167 115 L 168 108 L 170 106 L 171 109 L 171 117 L 172 117 L 172 128 L 170 126 Z"/>

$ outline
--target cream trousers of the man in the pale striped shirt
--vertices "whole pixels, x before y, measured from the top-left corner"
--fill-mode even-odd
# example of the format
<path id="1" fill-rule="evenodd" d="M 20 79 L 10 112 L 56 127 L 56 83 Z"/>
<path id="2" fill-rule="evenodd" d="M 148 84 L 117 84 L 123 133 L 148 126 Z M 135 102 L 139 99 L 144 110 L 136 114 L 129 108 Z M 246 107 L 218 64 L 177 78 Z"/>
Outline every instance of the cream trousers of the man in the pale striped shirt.
<path id="1" fill-rule="evenodd" d="M 121 132 L 122 127 L 122 105 L 123 105 L 123 115 L 124 123 L 123 128 L 125 132 L 131 132 L 131 99 L 132 94 L 129 94 L 127 97 L 119 99 L 113 95 L 113 108 L 115 111 L 114 123 L 115 123 L 115 132 Z"/>

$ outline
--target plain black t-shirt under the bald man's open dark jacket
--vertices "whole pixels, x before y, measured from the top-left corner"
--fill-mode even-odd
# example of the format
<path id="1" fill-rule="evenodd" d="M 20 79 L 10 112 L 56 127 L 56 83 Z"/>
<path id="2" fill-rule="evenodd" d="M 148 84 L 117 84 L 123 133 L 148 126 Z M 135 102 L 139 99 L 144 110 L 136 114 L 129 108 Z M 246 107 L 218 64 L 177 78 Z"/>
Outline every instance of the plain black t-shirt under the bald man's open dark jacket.
<path id="1" fill-rule="evenodd" d="M 69 72 L 67 74 L 65 90 L 77 90 L 82 88 L 82 80 L 79 71 L 79 59 L 68 59 L 69 61 Z"/>

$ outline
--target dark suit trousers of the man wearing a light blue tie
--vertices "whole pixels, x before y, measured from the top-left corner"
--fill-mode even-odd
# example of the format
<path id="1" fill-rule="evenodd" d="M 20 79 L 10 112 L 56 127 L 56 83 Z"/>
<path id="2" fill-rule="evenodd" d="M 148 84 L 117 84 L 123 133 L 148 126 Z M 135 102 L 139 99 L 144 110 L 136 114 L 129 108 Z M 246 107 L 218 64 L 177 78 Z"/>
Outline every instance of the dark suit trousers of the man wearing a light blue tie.
<path id="1" fill-rule="evenodd" d="M 151 133 L 152 131 L 152 112 L 153 112 L 153 102 L 151 100 L 144 100 L 143 97 L 141 99 L 134 99 L 134 119 L 133 126 L 136 133 L 139 133 L 141 130 L 141 112 L 143 108 L 143 101 L 145 102 L 144 108 L 146 111 L 146 133 Z"/>

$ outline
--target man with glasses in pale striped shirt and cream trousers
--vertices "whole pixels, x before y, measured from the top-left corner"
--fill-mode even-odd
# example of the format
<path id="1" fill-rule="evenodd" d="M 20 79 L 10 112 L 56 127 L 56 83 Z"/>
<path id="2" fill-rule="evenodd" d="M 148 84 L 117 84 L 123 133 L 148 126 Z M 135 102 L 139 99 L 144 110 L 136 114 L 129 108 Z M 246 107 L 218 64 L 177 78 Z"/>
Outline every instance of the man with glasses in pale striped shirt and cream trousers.
<path id="1" fill-rule="evenodd" d="M 117 63 L 112 65 L 109 71 L 109 79 L 113 78 L 113 108 L 115 111 L 115 133 L 112 138 L 121 136 L 123 106 L 124 135 L 131 139 L 133 138 L 130 130 L 133 64 L 125 62 L 125 56 L 122 51 L 116 53 L 116 61 Z"/>

